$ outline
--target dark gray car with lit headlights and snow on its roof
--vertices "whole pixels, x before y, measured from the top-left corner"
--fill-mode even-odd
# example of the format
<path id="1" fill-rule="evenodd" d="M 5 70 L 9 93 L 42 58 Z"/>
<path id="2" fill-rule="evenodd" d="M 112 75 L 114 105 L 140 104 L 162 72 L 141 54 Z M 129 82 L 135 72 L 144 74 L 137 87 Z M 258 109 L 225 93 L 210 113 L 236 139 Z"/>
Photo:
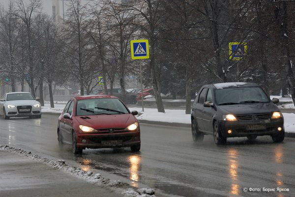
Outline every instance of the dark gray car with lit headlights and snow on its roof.
<path id="1" fill-rule="evenodd" d="M 284 140 L 284 118 L 279 108 L 255 83 L 218 83 L 205 85 L 192 107 L 191 125 L 194 141 L 212 134 L 216 144 L 227 137 L 270 135 L 273 142 Z"/>

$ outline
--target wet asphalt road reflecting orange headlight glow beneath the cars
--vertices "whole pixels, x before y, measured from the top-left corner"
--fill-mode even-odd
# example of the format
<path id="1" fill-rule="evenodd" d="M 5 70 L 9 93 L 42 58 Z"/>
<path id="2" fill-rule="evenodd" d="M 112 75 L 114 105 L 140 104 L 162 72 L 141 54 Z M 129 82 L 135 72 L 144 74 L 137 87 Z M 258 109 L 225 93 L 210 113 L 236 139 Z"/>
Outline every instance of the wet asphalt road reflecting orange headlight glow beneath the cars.
<path id="1" fill-rule="evenodd" d="M 169 196 L 295 196 L 295 138 L 274 144 L 269 136 L 254 142 L 228 139 L 216 146 L 213 136 L 194 143 L 188 128 L 141 124 L 142 149 L 87 149 L 82 156 L 59 151 L 57 115 L 42 119 L 0 118 L 0 144 L 10 144 L 77 162 L 84 170 L 96 168 L 162 190 Z M 248 192 L 243 192 L 247 188 Z M 250 188 L 286 188 L 289 192 L 249 192 Z"/>

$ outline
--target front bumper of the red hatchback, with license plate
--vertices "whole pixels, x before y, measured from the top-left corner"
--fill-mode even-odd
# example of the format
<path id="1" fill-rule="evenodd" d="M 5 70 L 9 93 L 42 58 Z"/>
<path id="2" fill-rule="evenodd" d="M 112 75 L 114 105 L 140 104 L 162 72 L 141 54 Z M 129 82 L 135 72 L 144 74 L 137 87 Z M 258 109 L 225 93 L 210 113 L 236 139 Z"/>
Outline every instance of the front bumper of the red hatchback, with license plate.
<path id="1" fill-rule="evenodd" d="M 82 142 L 82 140 L 84 142 Z M 86 140 L 86 141 L 85 141 Z M 116 144 L 105 145 L 106 141 L 118 141 Z M 77 146 L 79 148 L 114 148 L 129 147 L 140 144 L 140 131 L 126 131 L 117 133 L 91 133 L 78 134 Z"/>

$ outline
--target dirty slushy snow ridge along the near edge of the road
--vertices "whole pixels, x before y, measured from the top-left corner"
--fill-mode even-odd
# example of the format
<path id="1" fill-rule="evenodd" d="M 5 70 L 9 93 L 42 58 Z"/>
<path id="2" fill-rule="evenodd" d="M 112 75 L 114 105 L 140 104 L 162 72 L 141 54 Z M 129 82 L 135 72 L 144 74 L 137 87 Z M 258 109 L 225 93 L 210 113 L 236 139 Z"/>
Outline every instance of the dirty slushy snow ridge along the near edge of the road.
<path id="1" fill-rule="evenodd" d="M 40 162 L 51 166 L 53 169 L 59 169 L 63 172 L 76 176 L 78 178 L 84 179 L 91 184 L 96 184 L 99 186 L 109 186 L 109 189 L 124 195 L 125 197 L 155 197 L 154 190 L 150 188 L 142 188 L 135 192 L 132 188 L 122 189 L 119 187 L 129 186 L 128 183 L 124 183 L 121 180 L 110 180 L 103 178 L 99 173 L 93 174 L 91 171 L 84 171 L 79 167 L 74 167 L 67 165 L 64 160 L 49 160 L 47 158 L 42 158 L 38 155 L 32 155 L 31 152 L 24 151 L 22 149 L 10 147 L 7 145 L 0 145 L 0 150 L 17 153 L 23 157 L 32 159 L 33 161 Z"/>

